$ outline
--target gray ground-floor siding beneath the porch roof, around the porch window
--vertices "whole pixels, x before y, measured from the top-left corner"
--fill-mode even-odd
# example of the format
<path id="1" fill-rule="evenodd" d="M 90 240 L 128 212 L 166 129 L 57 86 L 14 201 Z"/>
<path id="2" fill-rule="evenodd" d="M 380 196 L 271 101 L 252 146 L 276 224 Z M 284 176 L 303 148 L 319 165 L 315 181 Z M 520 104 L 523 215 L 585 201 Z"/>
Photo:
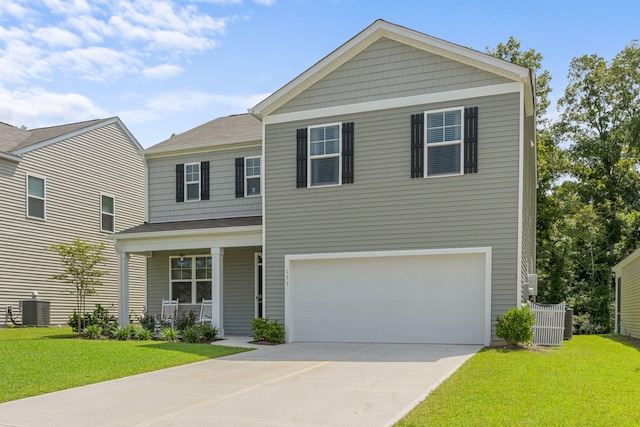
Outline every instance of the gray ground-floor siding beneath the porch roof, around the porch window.
<path id="1" fill-rule="evenodd" d="M 255 313 L 255 254 L 260 247 L 225 248 L 223 273 L 223 325 L 225 335 L 251 335 Z M 209 255 L 210 249 L 185 250 L 185 255 Z M 160 314 L 162 299 L 169 298 L 169 257 L 178 251 L 158 251 L 148 259 L 149 313 Z M 179 311 L 200 313 L 199 305 L 180 304 Z M 219 326 L 219 325 L 216 325 Z"/>

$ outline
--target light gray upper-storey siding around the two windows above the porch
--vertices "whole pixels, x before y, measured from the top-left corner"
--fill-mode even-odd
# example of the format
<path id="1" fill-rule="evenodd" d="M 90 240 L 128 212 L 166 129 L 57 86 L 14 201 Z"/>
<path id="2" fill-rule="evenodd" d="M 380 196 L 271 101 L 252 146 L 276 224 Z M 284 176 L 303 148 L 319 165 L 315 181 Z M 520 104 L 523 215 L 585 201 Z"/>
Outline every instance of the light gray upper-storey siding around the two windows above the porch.
<path id="1" fill-rule="evenodd" d="M 235 159 L 261 155 L 260 146 L 237 150 L 147 158 L 149 174 L 149 221 L 254 216 L 262 212 L 261 197 L 236 198 Z M 209 200 L 176 202 L 176 165 L 209 161 Z"/>

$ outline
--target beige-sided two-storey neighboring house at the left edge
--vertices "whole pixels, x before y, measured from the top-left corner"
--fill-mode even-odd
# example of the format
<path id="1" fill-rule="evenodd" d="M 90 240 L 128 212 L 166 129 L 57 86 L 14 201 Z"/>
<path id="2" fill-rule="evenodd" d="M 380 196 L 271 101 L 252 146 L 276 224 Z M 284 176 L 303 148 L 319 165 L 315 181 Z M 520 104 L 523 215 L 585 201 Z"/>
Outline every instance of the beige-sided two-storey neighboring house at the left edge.
<path id="1" fill-rule="evenodd" d="M 118 262 L 110 236 L 144 219 L 141 147 L 119 118 L 24 130 L 0 123 L 0 307 L 50 301 L 50 323 L 65 325 L 76 307 L 68 285 L 49 278 L 62 272 L 47 250 L 74 239 L 104 243 L 108 271 L 87 298 L 117 313 Z M 144 309 L 145 263 L 131 261 L 129 307 Z"/>

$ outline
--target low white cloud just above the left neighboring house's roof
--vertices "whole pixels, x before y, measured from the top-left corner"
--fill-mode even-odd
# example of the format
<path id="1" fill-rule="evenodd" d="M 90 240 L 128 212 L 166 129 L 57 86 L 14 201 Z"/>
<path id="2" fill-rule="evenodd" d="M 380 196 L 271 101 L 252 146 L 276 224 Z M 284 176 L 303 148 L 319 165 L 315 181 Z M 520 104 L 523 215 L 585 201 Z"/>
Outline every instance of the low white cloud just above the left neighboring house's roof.
<path id="1" fill-rule="evenodd" d="M 32 129 L 105 117 L 89 98 L 77 93 L 53 93 L 42 88 L 9 91 L 0 88 L 0 117 Z"/>

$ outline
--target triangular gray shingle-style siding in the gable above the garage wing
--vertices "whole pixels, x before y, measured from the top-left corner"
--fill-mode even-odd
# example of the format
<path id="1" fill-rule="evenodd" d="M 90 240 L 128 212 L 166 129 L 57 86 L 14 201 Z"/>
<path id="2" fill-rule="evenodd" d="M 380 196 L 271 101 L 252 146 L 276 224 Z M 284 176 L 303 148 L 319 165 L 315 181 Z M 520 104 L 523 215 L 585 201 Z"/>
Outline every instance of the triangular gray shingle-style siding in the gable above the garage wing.
<path id="1" fill-rule="evenodd" d="M 512 83 L 504 77 L 382 38 L 277 110 L 277 114 Z"/>

